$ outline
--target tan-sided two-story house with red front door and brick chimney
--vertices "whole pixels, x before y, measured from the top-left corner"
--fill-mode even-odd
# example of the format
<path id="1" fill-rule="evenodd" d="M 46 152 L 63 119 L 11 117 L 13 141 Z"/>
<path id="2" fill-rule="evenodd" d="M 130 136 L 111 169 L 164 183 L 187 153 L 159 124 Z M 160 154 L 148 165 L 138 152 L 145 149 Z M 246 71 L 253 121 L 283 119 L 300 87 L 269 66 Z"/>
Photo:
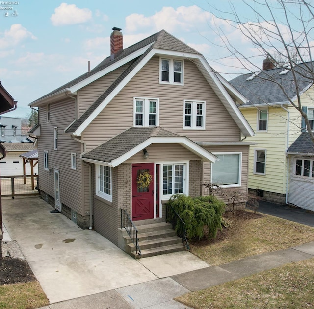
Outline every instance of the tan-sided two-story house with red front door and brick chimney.
<path id="1" fill-rule="evenodd" d="M 246 195 L 241 136 L 254 134 L 242 95 L 199 52 L 164 30 L 123 49 L 120 30 L 109 57 L 30 104 L 41 196 L 115 244 L 120 209 L 138 225 L 165 220 L 173 194 L 206 194 L 203 182 Z"/>

